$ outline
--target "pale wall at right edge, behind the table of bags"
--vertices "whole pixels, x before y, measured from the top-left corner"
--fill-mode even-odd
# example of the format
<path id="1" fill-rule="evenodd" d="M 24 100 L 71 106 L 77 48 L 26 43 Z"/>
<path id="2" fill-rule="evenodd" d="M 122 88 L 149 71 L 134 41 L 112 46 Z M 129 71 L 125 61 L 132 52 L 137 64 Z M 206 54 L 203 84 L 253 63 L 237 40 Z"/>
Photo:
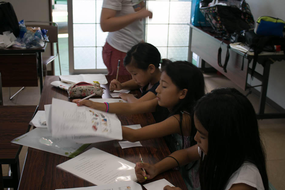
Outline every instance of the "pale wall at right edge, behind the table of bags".
<path id="1" fill-rule="evenodd" d="M 272 16 L 285 21 L 284 0 L 246 0 L 250 6 L 253 18 L 256 21 L 260 16 Z M 263 72 L 263 67 L 257 64 L 256 71 Z M 248 81 L 249 82 L 249 81 Z M 259 85 L 257 79 L 253 79 L 251 85 Z M 275 62 L 270 66 L 267 97 L 285 109 L 285 61 Z M 260 88 L 257 88 L 260 91 Z"/>

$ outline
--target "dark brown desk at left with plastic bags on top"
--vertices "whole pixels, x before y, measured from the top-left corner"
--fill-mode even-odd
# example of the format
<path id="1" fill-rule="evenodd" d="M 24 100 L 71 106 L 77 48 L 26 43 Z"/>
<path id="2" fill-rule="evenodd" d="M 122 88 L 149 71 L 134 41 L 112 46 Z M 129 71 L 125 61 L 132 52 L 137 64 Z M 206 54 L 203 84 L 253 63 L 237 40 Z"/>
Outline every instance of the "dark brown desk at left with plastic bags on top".
<path id="1" fill-rule="evenodd" d="M 45 52 L 46 44 L 42 48 L 0 49 L 0 72 L 3 87 L 38 86 L 40 78 L 40 90 L 42 93 L 42 52 Z"/>

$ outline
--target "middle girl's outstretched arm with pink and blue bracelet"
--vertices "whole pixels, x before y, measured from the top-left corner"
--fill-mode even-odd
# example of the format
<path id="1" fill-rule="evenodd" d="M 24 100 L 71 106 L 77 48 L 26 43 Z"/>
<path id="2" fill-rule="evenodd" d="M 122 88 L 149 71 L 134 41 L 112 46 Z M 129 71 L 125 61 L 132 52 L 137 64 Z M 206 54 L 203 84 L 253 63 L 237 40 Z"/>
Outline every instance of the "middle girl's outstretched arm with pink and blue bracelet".
<path id="1" fill-rule="evenodd" d="M 72 100 L 72 102 L 76 103 L 78 106 L 85 105 L 87 107 L 94 108 L 103 112 L 106 111 L 105 103 L 93 102 L 91 100 L 82 100 L 81 102 L 79 102 L 79 100 L 81 99 L 74 99 Z M 133 104 L 125 102 L 115 102 L 115 103 L 109 103 L 109 112 L 120 115 L 155 112 L 157 105 L 158 101 L 156 98 L 149 101 L 138 102 Z"/>

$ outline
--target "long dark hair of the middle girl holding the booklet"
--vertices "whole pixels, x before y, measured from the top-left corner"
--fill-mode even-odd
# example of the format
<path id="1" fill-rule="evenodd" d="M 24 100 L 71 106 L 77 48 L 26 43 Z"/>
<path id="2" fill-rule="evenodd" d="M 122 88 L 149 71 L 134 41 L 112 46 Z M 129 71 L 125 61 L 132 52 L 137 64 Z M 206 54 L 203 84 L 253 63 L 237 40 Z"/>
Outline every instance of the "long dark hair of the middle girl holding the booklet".
<path id="1" fill-rule="evenodd" d="M 204 76 L 199 68 L 187 61 L 171 62 L 168 59 L 163 59 L 162 71 L 171 78 L 171 81 L 176 85 L 179 90 L 186 88 L 188 91 L 185 98 L 179 101 L 170 111 L 169 116 L 179 115 L 180 129 L 182 127 L 182 111 L 186 111 L 191 114 L 193 106 L 197 100 L 199 100 L 205 94 L 205 82 Z M 191 118 L 193 114 L 191 114 Z M 189 119 L 191 119 L 189 118 Z M 194 136 L 196 134 L 196 128 L 194 127 L 193 119 L 191 119 L 191 131 L 190 131 L 190 143 L 196 144 Z M 184 143 L 184 137 L 182 134 L 182 146 Z M 183 146 L 184 148 L 184 146 Z"/>

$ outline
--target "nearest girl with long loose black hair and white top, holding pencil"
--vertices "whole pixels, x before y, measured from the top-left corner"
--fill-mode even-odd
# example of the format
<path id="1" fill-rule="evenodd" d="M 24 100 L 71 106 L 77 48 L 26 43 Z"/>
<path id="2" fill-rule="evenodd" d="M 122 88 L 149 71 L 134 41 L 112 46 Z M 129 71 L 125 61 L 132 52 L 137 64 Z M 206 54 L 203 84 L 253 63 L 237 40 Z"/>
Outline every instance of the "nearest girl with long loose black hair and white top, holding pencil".
<path id="1" fill-rule="evenodd" d="M 203 96 L 194 108 L 197 145 L 176 151 L 155 165 L 138 162 L 139 182 L 194 160 L 202 190 L 268 190 L 265 152 L 250 101 L 234 88 Z M 144 168 L 146 172 L 143 172 Z M 188 176 L 185 176 L 188 177 Z M 180 189 L 166 186 L 164 190 Z"/>

